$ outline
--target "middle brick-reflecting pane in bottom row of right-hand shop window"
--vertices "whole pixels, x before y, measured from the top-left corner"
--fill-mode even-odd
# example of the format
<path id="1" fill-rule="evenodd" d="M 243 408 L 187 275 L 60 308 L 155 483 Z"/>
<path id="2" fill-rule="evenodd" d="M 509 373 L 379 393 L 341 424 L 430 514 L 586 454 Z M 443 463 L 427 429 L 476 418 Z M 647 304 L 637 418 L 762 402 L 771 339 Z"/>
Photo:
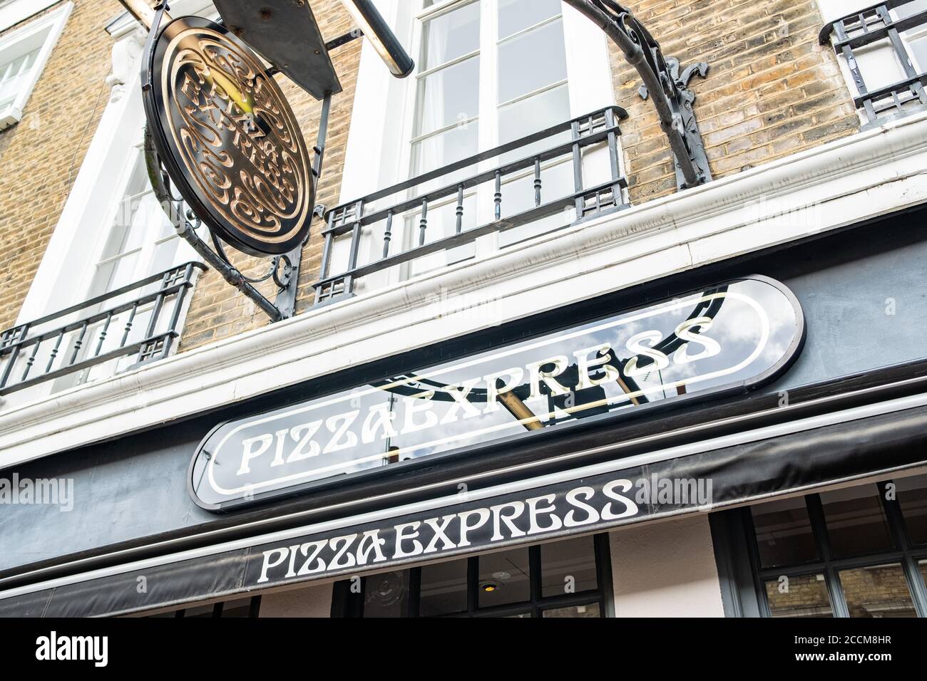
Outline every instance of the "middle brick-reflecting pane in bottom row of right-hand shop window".
<path id="1" fill-rule="evenodd" d="M 899 564 L 844 570 L 840 583 L 850 617 L 917 617 Z"/>

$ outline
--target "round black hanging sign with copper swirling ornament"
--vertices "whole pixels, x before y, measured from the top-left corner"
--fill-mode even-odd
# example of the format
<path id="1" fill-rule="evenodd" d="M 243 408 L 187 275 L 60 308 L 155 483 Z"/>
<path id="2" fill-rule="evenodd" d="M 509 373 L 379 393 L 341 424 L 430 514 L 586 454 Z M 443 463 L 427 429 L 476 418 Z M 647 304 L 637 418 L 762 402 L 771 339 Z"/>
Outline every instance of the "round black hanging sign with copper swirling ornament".
<path id="1" fill-rule="evenodd" d="M 298 248 L 315 201 L 311 158 L 260 58 L 199 17 L 171 21 L 149 57 L 148 126 L 186 203 L 250 255 Z"/>

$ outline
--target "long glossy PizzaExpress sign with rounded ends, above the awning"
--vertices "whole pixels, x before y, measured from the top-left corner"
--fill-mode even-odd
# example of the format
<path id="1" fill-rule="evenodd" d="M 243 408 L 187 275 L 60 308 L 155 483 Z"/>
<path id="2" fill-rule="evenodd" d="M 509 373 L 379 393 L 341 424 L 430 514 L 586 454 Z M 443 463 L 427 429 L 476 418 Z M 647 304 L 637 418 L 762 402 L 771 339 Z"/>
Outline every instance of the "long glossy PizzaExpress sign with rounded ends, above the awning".
<path id="1" fill-rule="evenodd" d="M 600 414 L 751 388 L 805 334 L 782 284 L 751 277 L 372 385 L 222 423 L 190 467 L 218 511 Z"/>

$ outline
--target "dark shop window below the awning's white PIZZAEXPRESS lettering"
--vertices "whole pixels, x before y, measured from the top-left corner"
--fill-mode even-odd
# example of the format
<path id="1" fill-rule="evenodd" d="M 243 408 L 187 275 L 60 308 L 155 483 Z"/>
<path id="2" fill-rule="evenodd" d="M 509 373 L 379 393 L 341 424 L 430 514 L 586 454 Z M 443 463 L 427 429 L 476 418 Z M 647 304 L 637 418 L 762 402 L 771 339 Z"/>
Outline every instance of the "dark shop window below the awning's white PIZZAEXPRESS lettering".
<path id="1" fill-rule="evenodd" d="M 582 536 L 335 586 L 340 617 L 604 617 L 608 537 Z"/>

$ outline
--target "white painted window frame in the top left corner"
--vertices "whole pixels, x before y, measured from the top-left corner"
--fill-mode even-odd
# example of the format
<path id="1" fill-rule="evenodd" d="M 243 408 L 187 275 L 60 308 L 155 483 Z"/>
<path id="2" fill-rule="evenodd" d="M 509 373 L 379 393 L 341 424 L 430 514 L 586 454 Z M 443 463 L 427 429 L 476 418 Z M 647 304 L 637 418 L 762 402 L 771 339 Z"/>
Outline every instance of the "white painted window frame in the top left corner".
<path id="1" fill-rule="evenodd" d="M 6 7 L 12 9 L 18 7 L 19 3 L 14 6 Z M 42 49 L 35 58 L 35 64 L 29 70 L 29 76 L 19 87 L 19 94 L 6 107 L 0 109 L 0 131 L 6 130 L 11 125 L 15 125 L 22 120 L 26 103 L 32 96 L 32 90 L 35 89 L 35 83 L 39 82 L 42 76 L 48 57 L 51 57 L 52 50 L 55 49 L 58 38 L 64 32 L 65 24 L 68 22 L 74 4 L 71 2 L 64 3 L 55 11 L 49 12 L 41 19 L 36 19 L 25 26 L 10 32 L 8 35 L 0 38 L 0 64 L 21 57 L 26 52 L 32 51 L 28 46 L 41 41 Z"/>

